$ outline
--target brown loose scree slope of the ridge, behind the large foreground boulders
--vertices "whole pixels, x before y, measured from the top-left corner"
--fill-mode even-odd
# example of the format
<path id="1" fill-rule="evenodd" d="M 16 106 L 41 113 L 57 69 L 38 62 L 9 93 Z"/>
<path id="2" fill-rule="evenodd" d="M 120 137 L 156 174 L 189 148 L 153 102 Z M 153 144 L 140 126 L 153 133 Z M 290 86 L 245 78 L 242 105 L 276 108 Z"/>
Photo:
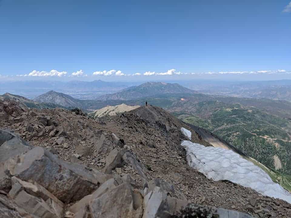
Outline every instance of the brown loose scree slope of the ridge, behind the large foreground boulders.
<path id="1" fill-rule="evenodd" d="M 283 200 L 264 197 L 239 184 L 208 180 L 197 170 L 189 167 L 186 162 L 185 150 L 180 145 L 182 140 L 189 139 L 181 133 L 180 128 L 191 130 L 192 142 L 205 146 L 210 146 L 210 144 L 199 138 L 199 134 L 196 134 L 190 126 L 162 108 L 150 105 L 142 106 L 119 116 L 105 116 L 93 120 L 88 119 L 78 110 L 69 111 L 57 108 L 21 111 L 15 108 L 17 105 L 12 104 L 11 106 L 14 109 L 9 108 L 10 104 L 8 104 L 5 107 L 5 112 L 16 111 L 15 118 L 10 120 L 8 116 L 5 116 L 4 119 L 0 119 L 2 127 L 9 127 L 16 134 L 21 134 L 35 149 L 36 146 L 41 146 L 42 149 L 49 148 L 50 152 L 55 154 L 49 156 L 54 157 L 51 158 L 52 160 L 58 157 L 62 160 L 74 161 L 74 166 L 85 165 L 89 169 L 84 171 L 85 174 L 95 173 L 97 170 L 99 177 L 101 177 L 100 171 L 104 170 L 103 172 L 112 173 L 105 174 L 106 177 L 111 175 L 109 178 L 117 178 L 128 173 L 133 178 L 135 187 L 141 187 L 143 183 L 148 183 L 149 188 L 153 184 L 161 184 L 162 188 L 166 188 L 163 185 L 165 184 L 163 181 L 166 181 L 167 184 L 173 184 L 169 186 L 171 190 L 175 190 L 175 192 L 169 192 L 171 197 L 180 196 L 179 198 L 183 199 L 184 195 L 189 202 L 210 204 L 245 213 L 262 213 L 265 216 L 274 214 L 283 218 L 288 214 L 289 204 Z M 38 130 L 40 127 L 42 129 Z M 40 150 L 40 148 L 37 149 Z M 111 156 L 113 154 L 117 156 Z M 116 157 L 114 160 L 117 163 L 110 162 L 110 164 L 119 164 L 120 161 L 125 165 L 116 165 L 116 168 L 110 168 L 111 165 L 108 161 L 112 160 L 111 157 Z M 122 159 L 119 160 L 119 157 Z M 64 178 L 65 180 L 60 180 L 58 183 L 65 182 L 66 177 Z M 20 179 L 22 178 L 20 177 Z M 54 177 L 49 179 L 53 180 Z M 38 182 L 40 185 L 47 185 L 42 180 Z M 86 183 L 80 185 L 86 185 Z M 63 185 L 61 188 L 67 189 L 67 187 L 70 186 Z M 121 189 L 122 186 L 119 188 Z M 60 193 L 55 189 L 49 190 L 58 197 L 64 197 L 63 195 L 66 193 L 65 191 Z M 111 192 L 109 191 L 109 193 Z M 110 196 L 109 193 L 105 193 L 102 198 Z M 255 206 L 250 203 L 253 200 L 257 202 L 254 204 Z M 272 207 L 273 202 L 278 205 L 275 205 L 275 209 Z M 261 207 L 261 205 L 264 206 Z M 268 208 L 268 210 L 263 211 L 260 208 Z M 259 212 L 256 213 L 256 210 Z"/>

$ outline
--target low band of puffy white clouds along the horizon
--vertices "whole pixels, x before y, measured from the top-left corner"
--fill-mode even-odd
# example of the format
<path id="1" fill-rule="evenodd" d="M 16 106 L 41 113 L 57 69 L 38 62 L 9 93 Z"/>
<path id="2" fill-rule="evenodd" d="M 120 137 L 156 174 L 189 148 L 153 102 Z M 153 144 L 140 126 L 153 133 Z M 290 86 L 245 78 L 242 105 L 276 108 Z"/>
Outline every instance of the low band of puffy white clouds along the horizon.
<path id="1" fill-rule="evenodd" d="M 20 74 L 16 75 L 18 77 L 65 77 L 69 75 L 69 77 L 88 77 L 88 76 L 172 76 L 172 75 L 252 75 L 252 74 L 291 74 L 291 71 L 287 71 L 284 69 L 278 70 L 259 70 L 259 71 L 219 71 L 219 72 L 201 72 L 201 73 L 182 73 L 177 71 L 176 69 L 170 69 L 166 72 L 156 72 L 156 71 L 146 71 L 144 73 L 134 73 L 134 74 L 125 74 L 121 70 L 103 70 L 103 71 L 95 71 L 92 74 L 85 74 L 83 70 L 79 70 L 69 74 L 67 71 L 36 71 L 33 70 L 29 74 Z M 1 76 L 1 75 L 0 75 Z M 3 77 L 3 75 L 2 75 Z"/>

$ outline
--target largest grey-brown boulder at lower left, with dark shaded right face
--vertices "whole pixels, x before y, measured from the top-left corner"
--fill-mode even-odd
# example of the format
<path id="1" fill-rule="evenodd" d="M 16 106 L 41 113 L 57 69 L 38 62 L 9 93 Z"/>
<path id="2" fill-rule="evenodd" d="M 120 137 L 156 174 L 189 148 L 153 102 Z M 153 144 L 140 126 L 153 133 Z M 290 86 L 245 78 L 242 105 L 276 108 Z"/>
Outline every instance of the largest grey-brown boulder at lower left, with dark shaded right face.
<path id="1" fill-rule="evenodd" d="M 12 175 L 24 181 L 37 182 L 63 202 L 80 200 L 108 178 L 98 171 L 92 173 L 82 165 L 62 161 L 41 147 L 7 162 Z"/>

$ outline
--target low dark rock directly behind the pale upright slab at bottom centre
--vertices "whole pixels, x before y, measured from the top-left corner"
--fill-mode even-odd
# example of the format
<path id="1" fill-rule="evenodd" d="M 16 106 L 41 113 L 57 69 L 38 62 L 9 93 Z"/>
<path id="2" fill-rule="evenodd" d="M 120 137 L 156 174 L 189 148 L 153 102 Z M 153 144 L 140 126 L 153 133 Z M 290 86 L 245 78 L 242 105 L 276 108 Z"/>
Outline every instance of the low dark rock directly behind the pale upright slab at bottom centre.
<path id="1" fill-rule="evenodd" d="M 165 193 L 169 193 L 171 195 L 171 197 L 175 197 L 175 198 L 178 198 L 180 200 L 187 200 L 185 195 L 182 192 L 175 190 L 175 187 L 171 183 L 168 183 L 162 179 L 150 180 L 148 182 L 148 186 L 149 186 L 149 189 L 151 189 L 151 190 L 154 190 L 154 188 L 156 186 L 160 187 L 161 191 L 163 191 Z"/>

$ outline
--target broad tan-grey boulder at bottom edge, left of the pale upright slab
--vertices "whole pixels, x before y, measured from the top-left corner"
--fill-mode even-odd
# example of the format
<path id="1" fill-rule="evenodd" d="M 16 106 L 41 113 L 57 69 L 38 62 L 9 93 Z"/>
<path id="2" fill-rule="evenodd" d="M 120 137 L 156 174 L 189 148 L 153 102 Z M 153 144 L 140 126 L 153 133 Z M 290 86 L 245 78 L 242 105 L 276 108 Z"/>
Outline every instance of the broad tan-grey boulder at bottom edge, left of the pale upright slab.
<path id="1" fill-rule="evenodd" d="M 108 203 L 110 202 L 110 203 Z M 142 195 L 123 183 L 89 203 L 92 218 L 141 218 Z"/>

